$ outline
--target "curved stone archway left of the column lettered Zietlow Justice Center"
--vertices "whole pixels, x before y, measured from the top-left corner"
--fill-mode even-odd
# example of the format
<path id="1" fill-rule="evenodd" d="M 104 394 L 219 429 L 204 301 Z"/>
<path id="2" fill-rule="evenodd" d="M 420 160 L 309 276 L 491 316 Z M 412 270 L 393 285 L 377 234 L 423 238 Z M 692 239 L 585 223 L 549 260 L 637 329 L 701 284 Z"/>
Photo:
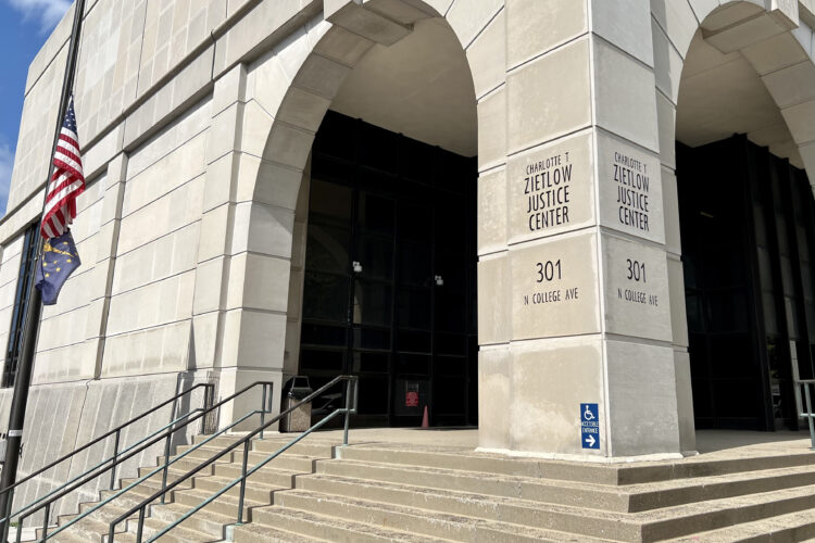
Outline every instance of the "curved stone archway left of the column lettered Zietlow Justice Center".
<path id="1" fill-rule="evenodd" d="M 334 4 L 342 5 L 333 8 Z M 248 342 L 274 337 L 267 358 L 284 374 L 290 367 L 289 354 L 299 349 L 299 327 L 292 321 L 300 311 L 302 281 L 297 268 L 302 266 L 304 217 L 298 216 L 298 200 L 302 211 L 308 194 L 301 187 L 304 176 L 309 176 L 315 132 L 354 66 L 377 45 L 396 43 L 409 36 L 414 25 L 436 21 L 454 36 L 465 64 L 469 64 L 476 87 L 474 109 L 478 98 L 504 84 L 503 61 L 490 54 L 493 46 L 504 47 L 503 36 L 481 31 L 485 27 L 503 30 L 503 24 L 499 24 L 502 2 L 460 0 L 451 7 L 450 0 L 374 0 L 359 4 L 326 2 L 325 13 L 304 24 L 244 72 L 241 148 L 246 155 L 241 169 L 247 184 L 240 190 L 242 198 L 252 200 L 246 228 L 250 245 L 254 239 L 259 249 L 249 257 L 254 262 L 248 262 L 240 273 L 244 291 L 271 288 L 278 299 L 277 307 L 286 307 L 286 312 L 253 316 L 259 324 L 241 325 L 239 333 L 241 341 Z M 360 21 L 364 22 L 362 26 L 358 26 Z M 487 40 L 491 42 L 485 46 Z M 480 106 L 478 110 L 481 124 L 484 115 Z M 501 160 L 503 154 L 501 151 Z M 273 238 L 278 240 L 276 247 L 263 247 L 262 239 Z M 268 283 L 268 273 L 276 273 L 279 278 L 274 285 Z"/>

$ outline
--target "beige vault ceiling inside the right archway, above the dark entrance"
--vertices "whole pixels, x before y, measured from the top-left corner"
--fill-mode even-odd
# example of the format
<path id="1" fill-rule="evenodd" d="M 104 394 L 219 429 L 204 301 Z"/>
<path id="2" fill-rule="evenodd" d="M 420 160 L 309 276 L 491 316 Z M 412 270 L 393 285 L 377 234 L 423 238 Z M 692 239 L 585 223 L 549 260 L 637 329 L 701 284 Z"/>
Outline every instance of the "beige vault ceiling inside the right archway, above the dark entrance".
<path id="1" fill-rule="evenodd" d="M 747 59 L 723 54 L 697 33 L 679 87 L 676 139 L 690 147 L 747 134 L 776 156 L 803 167 L 798 147 L 773 97 Z"/>

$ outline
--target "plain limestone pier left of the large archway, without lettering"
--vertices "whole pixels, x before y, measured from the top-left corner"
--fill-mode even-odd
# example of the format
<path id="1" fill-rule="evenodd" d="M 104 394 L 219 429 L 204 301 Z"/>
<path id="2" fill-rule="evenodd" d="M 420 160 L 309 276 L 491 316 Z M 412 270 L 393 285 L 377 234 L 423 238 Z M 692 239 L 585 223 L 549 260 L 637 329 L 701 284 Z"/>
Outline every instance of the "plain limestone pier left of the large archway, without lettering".
<path id="1" fill-rule="evenodd" d="M 269 291 L 276 293 L 274 282 L 267 278 L 277 277 L 278 270 L 268 274 L 263 267 L 265 255 L 256 243 L 251 244 L 250 216 L 259 211 L 251 192 L 247 195 L 241 184 L 242 178 L 252 176 L 247 162 L 256 162 L 244 149 L 246 88 L 246 66 L 239 64 L 222 75 L 213 90 L 190 369 L 212 374 L 222 399 L 255 381 L 271 381 L 272 405 L 276 406 L 281 388 L 281 356 L 275 348 L 283 344 L 277 336 L 283 337 L 285 316 L 274 314 L 276 307 L 259 308 Z M 288 262 L 278 267 L 287 273 Z M 267 326 L 269 319 L 274 320 L 273 326 Z M 221 411 L 222 425 L 259 409 L 261 391 L 256 387 L 226 404 Z M 252 418 L 242 429 L 255 428 L 259 421 Z"/>

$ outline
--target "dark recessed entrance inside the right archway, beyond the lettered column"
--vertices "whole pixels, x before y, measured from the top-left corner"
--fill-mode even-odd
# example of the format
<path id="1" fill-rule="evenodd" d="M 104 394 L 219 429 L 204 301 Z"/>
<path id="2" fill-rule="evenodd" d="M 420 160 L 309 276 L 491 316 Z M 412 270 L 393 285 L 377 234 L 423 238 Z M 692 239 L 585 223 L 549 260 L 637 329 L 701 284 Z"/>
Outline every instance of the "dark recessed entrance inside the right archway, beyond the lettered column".
<path id="1" fill-rule="evenodd" d="M 735 136 L 678 146 L 677 177 L 697 428 L 797 429 L 815 349 L 806 174 Z"/>

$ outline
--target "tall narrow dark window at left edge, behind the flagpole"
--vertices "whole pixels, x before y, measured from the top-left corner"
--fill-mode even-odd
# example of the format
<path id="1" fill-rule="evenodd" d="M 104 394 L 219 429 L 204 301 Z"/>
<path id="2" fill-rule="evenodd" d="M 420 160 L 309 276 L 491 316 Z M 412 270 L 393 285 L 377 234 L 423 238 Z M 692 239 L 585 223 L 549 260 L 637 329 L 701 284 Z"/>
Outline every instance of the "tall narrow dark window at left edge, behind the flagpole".
<path id="1" fill-rule="evenodd" d="M 23 251 L 20 257 L 20 272 L 17 274 L 17 288 L 14 293 L 14 310 L 11 316 L 11 329 L 9 330 L 9 344 L 5 349 L 3 388 L 14 387 L 14 380 L 17 376 L 20 355 L 23 350 L 25 315 L 28 310 L 28 287 L 32 282 L 32 274 L 34 274 L 36 251 L 37 225 L 34 224 L 25 231 L 25 237 L 23 239 Z"/>

